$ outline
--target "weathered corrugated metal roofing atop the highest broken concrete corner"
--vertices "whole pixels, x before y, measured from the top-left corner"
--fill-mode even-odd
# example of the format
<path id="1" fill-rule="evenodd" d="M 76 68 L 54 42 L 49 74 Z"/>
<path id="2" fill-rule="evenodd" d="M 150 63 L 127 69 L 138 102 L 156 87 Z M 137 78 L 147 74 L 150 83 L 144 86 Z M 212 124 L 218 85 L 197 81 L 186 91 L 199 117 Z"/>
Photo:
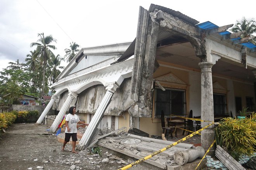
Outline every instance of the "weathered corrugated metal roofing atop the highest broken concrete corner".
<path id="1" fill-rule="evenodd" d="M 182 19 L 182 20 L 187 21 L 187 22 L 189 22 L 191 24 L 194 24 L 194 25 L 199 23 L 199 21 L 196 21 L 195 19 L 190 18 L 189 16 L 184 15 L 179 11 L 175 11 L 175 10 L 172 10 L 172 9 L 169 9 L 169 8 L 162 7 L 162 6 L 155 5 L 155 4 L 151 3 L 151 5 L 149 7 L 149 12 L 154 12 L 155 9 L 162 10 L 163 12 L 171 14 L 175 17 L 178 17 L 179 19 Z"/>

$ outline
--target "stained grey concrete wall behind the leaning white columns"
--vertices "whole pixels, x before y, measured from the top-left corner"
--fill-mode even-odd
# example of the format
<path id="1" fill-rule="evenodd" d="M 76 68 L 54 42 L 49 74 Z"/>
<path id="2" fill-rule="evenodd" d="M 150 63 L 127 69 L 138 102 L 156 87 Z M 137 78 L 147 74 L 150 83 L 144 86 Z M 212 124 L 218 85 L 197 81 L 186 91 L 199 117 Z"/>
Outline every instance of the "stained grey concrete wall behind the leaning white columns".
<path id="1" fill-rule="evenodd" d="M 107 107 L 104 115 L 120 115 L 120 113 L 128 110 L 134 103 L 130 98 L 131 78 L 127 78 L 123 81 L 121 86 L 113 94 L 111 103 Z M 65 91 L 59 96 L 57 110 L 60 110 L 67 98 L 68 92 Z M 102 101 L 102 98 L 106 94 L 106 88 L 103 85 L 92 86 L 80 94 L 78 94 L 78 100 L 76 104 L 76 110 L 79 113 L 95 113 Z M 76 103 L 76 98 L 73 99 L 71 105 Z"/>

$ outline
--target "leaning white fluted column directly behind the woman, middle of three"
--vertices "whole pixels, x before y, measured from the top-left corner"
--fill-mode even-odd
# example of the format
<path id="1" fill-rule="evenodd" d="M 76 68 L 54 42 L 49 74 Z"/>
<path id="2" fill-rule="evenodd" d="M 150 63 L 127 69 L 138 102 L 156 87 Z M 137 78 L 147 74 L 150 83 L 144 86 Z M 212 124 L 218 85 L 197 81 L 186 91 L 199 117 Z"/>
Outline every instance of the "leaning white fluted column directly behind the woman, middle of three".
<path id="1" fill-rule="evenodd" d="M 67 109 L 69 108 L 71 101 L 76 96 L 77 96 L 77 94 L 74 93 L 73 91 L 69 92 L 64 105 L 62 106 L 60 112 L 58 113 L 57 117 L 55 118 L 54 122 L 52 123 L 52 126 L 50 127 L 49 133 L 55 133 L 57 131 L 58 125 L 61 123 L 63 116 L 67 112 Z"/>

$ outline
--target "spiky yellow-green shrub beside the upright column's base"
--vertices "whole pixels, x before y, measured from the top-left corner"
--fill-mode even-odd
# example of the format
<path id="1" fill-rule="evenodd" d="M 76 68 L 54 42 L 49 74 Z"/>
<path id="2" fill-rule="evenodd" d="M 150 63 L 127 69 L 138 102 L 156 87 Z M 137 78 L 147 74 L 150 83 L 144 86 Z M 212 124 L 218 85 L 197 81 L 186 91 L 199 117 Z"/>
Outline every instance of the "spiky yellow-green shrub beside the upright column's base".
<path id="1" fill-rule="evenodd" d="M 224 118 L 215 127 L 216 143 L 227 148 L 228 153 L 239 160 L 242 156 L 253 156 L 256 152 L 256 113 L 249 118 Z"/>

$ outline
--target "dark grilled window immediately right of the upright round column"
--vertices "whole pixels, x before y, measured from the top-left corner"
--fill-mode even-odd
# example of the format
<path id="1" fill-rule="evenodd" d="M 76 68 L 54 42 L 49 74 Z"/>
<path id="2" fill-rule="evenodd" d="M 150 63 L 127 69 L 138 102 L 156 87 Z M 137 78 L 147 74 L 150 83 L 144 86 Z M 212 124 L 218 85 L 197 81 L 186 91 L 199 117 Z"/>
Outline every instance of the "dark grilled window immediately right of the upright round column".
<path id="1" fill-rule="evenodd" d="M 226 94 L 213 93 L 213 112 L 214 115 L 228 115 Z"/>

